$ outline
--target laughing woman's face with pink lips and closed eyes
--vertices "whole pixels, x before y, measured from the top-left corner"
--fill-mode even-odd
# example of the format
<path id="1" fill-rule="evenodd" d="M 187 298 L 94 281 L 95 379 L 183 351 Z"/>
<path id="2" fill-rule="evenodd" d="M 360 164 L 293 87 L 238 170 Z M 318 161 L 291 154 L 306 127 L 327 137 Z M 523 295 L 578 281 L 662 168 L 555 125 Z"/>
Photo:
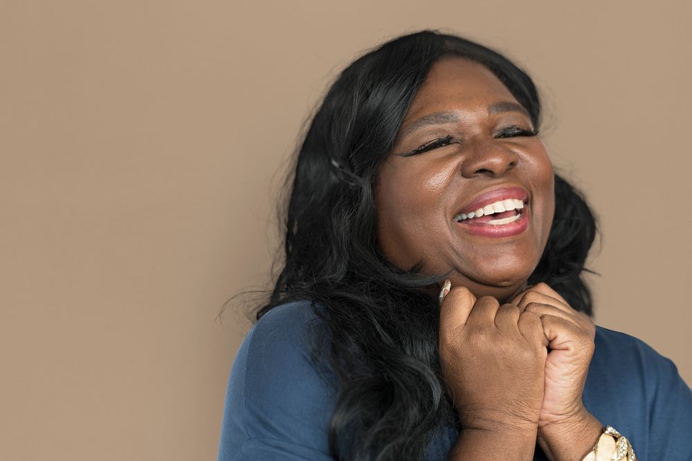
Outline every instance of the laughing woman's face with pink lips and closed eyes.
<path id="1" fill-rule="evenodd" d="M 534 271 L 554 213 L 553 170 L 525 109 L 490 70 L 436 62 L 378 173 L 378 239 L 399 267 L 509 299 Z M 479 216 L 482 215 L 482 216 Z"/>

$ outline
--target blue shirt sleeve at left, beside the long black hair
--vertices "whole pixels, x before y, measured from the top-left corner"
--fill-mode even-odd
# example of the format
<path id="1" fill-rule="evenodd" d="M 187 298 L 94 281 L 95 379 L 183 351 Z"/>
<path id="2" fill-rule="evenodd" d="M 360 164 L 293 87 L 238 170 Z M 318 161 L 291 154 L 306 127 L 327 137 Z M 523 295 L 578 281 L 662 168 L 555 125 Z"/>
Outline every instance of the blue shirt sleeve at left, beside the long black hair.
<path id="1" fill-rule="evenodd" d="M 334 388 L 314 364 L 309 302 L 278 306 L 253 327 L 228 381 L 219 461 L 331 461 Z"/>

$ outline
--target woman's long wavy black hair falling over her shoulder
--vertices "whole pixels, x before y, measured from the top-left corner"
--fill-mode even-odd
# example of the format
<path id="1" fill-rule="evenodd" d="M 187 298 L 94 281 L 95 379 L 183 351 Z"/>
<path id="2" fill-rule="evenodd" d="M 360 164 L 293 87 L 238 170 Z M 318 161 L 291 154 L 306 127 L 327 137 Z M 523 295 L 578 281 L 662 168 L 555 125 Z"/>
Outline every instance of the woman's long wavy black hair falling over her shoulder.
<path id="1" fill-rule="evenodd" d="M 363 55 L 339 75 L 298 150 L 282 221 L 282 270 L 257 319 L 277 305 L 310 299 L 329 338 L 337 379 L 329 443 L 340 460 L 417 460 L 455 411 L 441 381 L 435 277 L 401 270 L 376 241 L 373 200 L 379 164 L 417 89 L 437 59 L 455 55 L 493 72 L 538 129 L 540 100 L 507 58 L 460 37 L 422 31 Z M 529 283 L 544 281 L 591 314 L 582 279 L 597 233 L 583 197 L 555 176 L 551 232 Z"/>

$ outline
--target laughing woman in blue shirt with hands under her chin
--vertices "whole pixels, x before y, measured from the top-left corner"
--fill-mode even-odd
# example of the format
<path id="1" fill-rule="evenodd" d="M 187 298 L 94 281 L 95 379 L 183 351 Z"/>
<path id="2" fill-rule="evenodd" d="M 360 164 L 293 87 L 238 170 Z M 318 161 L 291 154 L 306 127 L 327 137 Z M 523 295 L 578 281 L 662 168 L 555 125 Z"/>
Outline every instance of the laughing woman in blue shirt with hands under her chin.
<path id="1" fill-rule="evenodd" d="M 531 79 L 459 37 L 343 71 L 298 152 L 219 460 L 691 459 L 675 366 L 590 320 L 594 218 L 539 122 Z"/>

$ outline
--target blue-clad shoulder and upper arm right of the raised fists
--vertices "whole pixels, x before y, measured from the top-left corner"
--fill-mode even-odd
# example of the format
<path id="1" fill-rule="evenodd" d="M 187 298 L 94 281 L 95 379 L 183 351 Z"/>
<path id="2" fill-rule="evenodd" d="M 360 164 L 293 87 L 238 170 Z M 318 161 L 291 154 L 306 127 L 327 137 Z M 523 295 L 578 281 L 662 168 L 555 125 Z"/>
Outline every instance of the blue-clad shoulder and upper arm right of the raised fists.
<path id="1" fill-rule="evenodd" d="M 583 394 L 589 411 L 626 435 L 643 459 L 688 459 L 682 453 L 692 452 L 692 439 L 682 434 L 692 427 L 692 393 L 673 361 L 600 326 L 595 343 Z"/>

